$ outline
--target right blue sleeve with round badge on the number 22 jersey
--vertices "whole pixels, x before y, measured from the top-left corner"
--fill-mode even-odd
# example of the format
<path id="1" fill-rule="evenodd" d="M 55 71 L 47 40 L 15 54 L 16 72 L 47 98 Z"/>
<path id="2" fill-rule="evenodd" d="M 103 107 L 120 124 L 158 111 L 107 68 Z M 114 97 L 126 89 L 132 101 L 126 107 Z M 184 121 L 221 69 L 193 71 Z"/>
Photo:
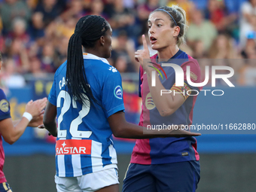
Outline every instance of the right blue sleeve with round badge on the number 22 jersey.
<path id="1" fill-rule="evenodd" d="M 102 85 L 102 105 L 107 117 L 123 111 L 123 87 L 119 72 L 111 72 Z"/>

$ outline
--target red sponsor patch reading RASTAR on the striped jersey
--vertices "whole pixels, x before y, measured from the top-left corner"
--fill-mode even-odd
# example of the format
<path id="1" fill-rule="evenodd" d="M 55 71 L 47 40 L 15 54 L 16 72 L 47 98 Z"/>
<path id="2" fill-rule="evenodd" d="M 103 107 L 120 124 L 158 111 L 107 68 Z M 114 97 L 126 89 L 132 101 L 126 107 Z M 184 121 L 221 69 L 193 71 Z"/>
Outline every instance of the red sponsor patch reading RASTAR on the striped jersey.
<path id="1" fill-rule="evenodd" d="M 91 154 L 92 140 L 67 139 L 56 141 L 56 155 L 59 154 Z"/>

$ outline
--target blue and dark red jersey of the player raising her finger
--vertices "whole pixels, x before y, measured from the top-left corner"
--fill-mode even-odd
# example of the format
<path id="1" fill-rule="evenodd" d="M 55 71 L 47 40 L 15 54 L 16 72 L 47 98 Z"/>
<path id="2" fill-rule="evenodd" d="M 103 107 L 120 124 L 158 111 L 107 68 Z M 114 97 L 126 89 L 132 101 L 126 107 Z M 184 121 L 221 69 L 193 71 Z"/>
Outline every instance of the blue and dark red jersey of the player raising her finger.
<path id="1" fill-rule="evenodd" d="M 151 62 L 157 62 L 157 54 L 151 56 Z M 163 62 L 159 62 L 161 64 Z M 173 63 L 181 66 L 184 71 L 184 84 L 190 90 L 202 90 L 202 87 L 192 87 L 187 83 L 186 72 L 187 66 L 190 66 L 190 80 L 194 83 L 200 83 L 201 72 L 200 66 L 196 59 L 187 55 L 181 50 L 172 56 L 166 63 Z M 166 90 L 171 90 L 175 86 L 175 71 L 172 67 L 162 66 L 166 72 L 166 77 L 160 78 L 163 87 Z M 192 95 L 192 94 L 191 94 Z M 196 95 L 196 94 L 194 94 Z M 139 96 L 142 96 L 142 114 L 140 116 L 140 126 L 147 127 L 148 125 L 190 125 L 193 119 L 193 109 L 197 96 L 188 96 L 184 103 L 173 114 L 162 117 L 154 105 L 148 87 L 147 75 L 140 67 L 139 73 Z M 167 137 L 154 139 L 138 139 L 133 148 L 133 154 L 130 163 L 139 164 L 161 164 L 174 163 L 189 160 L 199 160 L 197 153 L 197 139 L 194 137 Z"/>

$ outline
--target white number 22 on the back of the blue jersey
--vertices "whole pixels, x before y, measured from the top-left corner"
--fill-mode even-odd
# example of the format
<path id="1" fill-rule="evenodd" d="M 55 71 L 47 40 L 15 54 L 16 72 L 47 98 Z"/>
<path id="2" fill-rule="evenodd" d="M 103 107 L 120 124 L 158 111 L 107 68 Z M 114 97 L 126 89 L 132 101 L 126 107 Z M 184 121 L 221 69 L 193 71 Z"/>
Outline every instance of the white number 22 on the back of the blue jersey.
<path id="1" fill-rule="evenodd" d="M 84 95 L 87 99 L 88 97 Z M 63 115 L 66 113 L 66 111 L 69 111 L 69 108 L 78 108 L 77 103 L 75 102 L 74 99 L 72 99 L 71 103 L 71 97 L 69 96 L 69 93 L 67 93 L 65 90 L 61 90 L 59 92 L 59 96 L 57 98 L 57 108 L 61 107 L 60 106 L 60 101 L 61 99 L 64 99 L 63 106 L 61 108 L 61 112 L 58 117 L 58 137 L 66 137 L 67 136 L 67 130 L 60 130 L 60 123 L 63 120 Z M 90 111 L 90 102 L 89 102 L 89 107 L 84 106 L 82 107 L 81 111 L 79 111 L 78 117 L 76 117 L 74 120 L 72 120 L 70 127 L 69 127 L 69 132 L 72 135 L 72 137 L 77 137 L 77 138 L 89 138 L 92 135 L 92 131 L 79 131 L 78 126 L 83 122 L 83 118 L 87 116 L 87 114 Z"/>

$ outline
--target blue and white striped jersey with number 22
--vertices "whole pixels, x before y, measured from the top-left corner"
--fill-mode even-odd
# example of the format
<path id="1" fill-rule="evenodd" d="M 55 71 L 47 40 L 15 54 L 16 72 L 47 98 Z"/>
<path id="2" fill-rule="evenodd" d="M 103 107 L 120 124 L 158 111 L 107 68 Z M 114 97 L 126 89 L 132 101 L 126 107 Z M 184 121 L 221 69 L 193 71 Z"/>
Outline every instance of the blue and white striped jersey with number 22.
<path id="1" fill-rule="evenodd" d="M 93 96 L 101 105 L 85 107 L 66 91 L 66 62 L 56 71 L 49 102 L 57 107 L 56 175 L 76 177 L 117 168 L 108 117 L 123 111 L 120 73 L 108 61 L 84 53 L 84 69 Z M 75 74 L 74 74 L 75 75 Z"/>

